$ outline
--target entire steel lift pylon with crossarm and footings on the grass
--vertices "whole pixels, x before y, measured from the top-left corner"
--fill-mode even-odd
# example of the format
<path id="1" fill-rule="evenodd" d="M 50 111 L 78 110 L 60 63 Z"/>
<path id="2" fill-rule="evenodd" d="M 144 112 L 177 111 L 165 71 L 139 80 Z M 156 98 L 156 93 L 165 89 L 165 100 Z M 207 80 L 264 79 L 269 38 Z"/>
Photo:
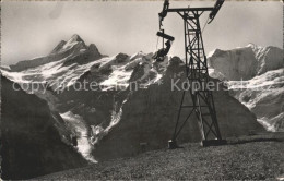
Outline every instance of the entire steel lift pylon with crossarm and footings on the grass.
<path id="1" fill-rule="evenodd" d="M 177 148 L 177 137 L 180 134 L 186 122 L 191 116 L 196 114 L 201 133 L 201 145 L 223 145 L 226 141 L 222 138 L 215 104 L 212 90 L 206 86 L 210 81 L 208 71 L 208 61 L 202 39 L 202 29 L 200 27 L 200 16 L 209 11 L 209 23 L 213 21 L 224 0 L 217 0 L 213 8 L 181 8 L 169 9 L 168 0 L 164 1 L 164 8 L 159 15 L 159 26 L 169 12 L 178 13 L 184 20 L 185 34 L 185 56 L 186 56 L 186 76 L 190 88 L 182 90 L 179 111 L 171 140 L 168 141 L 169 148 Z M 161 28 L 161 27 L 159 27 Z M 199 85 L 197 88 L 194 85 Z M 191 97 L 191 104 L 187 105 L 186 98 Z M 186 113 L 182 120 L 181 113 Z"/>

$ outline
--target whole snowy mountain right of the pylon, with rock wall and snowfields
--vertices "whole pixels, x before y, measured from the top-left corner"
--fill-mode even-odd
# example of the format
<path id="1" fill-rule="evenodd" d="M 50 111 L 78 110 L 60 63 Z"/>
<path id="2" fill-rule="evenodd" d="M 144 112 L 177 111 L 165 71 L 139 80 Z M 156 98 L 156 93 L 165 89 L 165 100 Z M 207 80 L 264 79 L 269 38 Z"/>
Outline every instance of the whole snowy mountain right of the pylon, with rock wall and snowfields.
<path id="1" fill-rule="evenodd" d="M 214 50 L 211 76 L 226 81 L 233 96 L 270 131 L 284 131 L 284 55 L 276 47 L 248 45 Z"/>

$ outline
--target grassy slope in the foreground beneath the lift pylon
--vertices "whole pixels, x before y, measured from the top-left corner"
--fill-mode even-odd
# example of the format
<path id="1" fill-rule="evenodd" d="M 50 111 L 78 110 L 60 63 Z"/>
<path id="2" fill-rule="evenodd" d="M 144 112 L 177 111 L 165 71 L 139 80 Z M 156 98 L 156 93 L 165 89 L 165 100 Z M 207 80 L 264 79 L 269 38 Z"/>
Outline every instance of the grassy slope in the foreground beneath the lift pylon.
<path id="1" fill-rule="evenodd" d="M 275 180 L 284 173 L 284 142 L 255 142 L 218 147 L 186 144 L 133 158 L 116 159 L 39 179 L 72 180 Z"/>

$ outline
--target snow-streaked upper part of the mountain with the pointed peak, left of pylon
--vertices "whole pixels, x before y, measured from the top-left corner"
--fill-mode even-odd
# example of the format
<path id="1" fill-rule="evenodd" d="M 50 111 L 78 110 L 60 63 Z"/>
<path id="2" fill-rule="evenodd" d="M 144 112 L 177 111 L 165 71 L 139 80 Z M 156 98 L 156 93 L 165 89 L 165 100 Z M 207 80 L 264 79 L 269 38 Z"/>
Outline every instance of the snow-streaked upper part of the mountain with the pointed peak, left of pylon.
<path id="1" fill-rule="evenodd" d="M 63 53 L 63 56 L 62 56 Z M 104 89 L 116 86 L 127 87 L 128 81 L 139 63 L 152 61 L 153 53 L 138 52 L 133 56 L 118 53 L 113 57 L 102 56 L 94 44 L 88 47 L 79 35 L 73 35 L 67 43 L 60 41 L 58 46 L 46 57 L 20 61 L 15 65 L 2 68 L 2 74 L 17 83 L 42 83 L 54 90 L 63 90 L 73 85 L 81 76 L 87 73 L 96 74 L 95 81 Z M 156 71 L 146 67 L 142 80 L 149 79 L 156 82 L 161 73 L 165 71 L 167 61 L 161 63 L 164 67 Z"/>

